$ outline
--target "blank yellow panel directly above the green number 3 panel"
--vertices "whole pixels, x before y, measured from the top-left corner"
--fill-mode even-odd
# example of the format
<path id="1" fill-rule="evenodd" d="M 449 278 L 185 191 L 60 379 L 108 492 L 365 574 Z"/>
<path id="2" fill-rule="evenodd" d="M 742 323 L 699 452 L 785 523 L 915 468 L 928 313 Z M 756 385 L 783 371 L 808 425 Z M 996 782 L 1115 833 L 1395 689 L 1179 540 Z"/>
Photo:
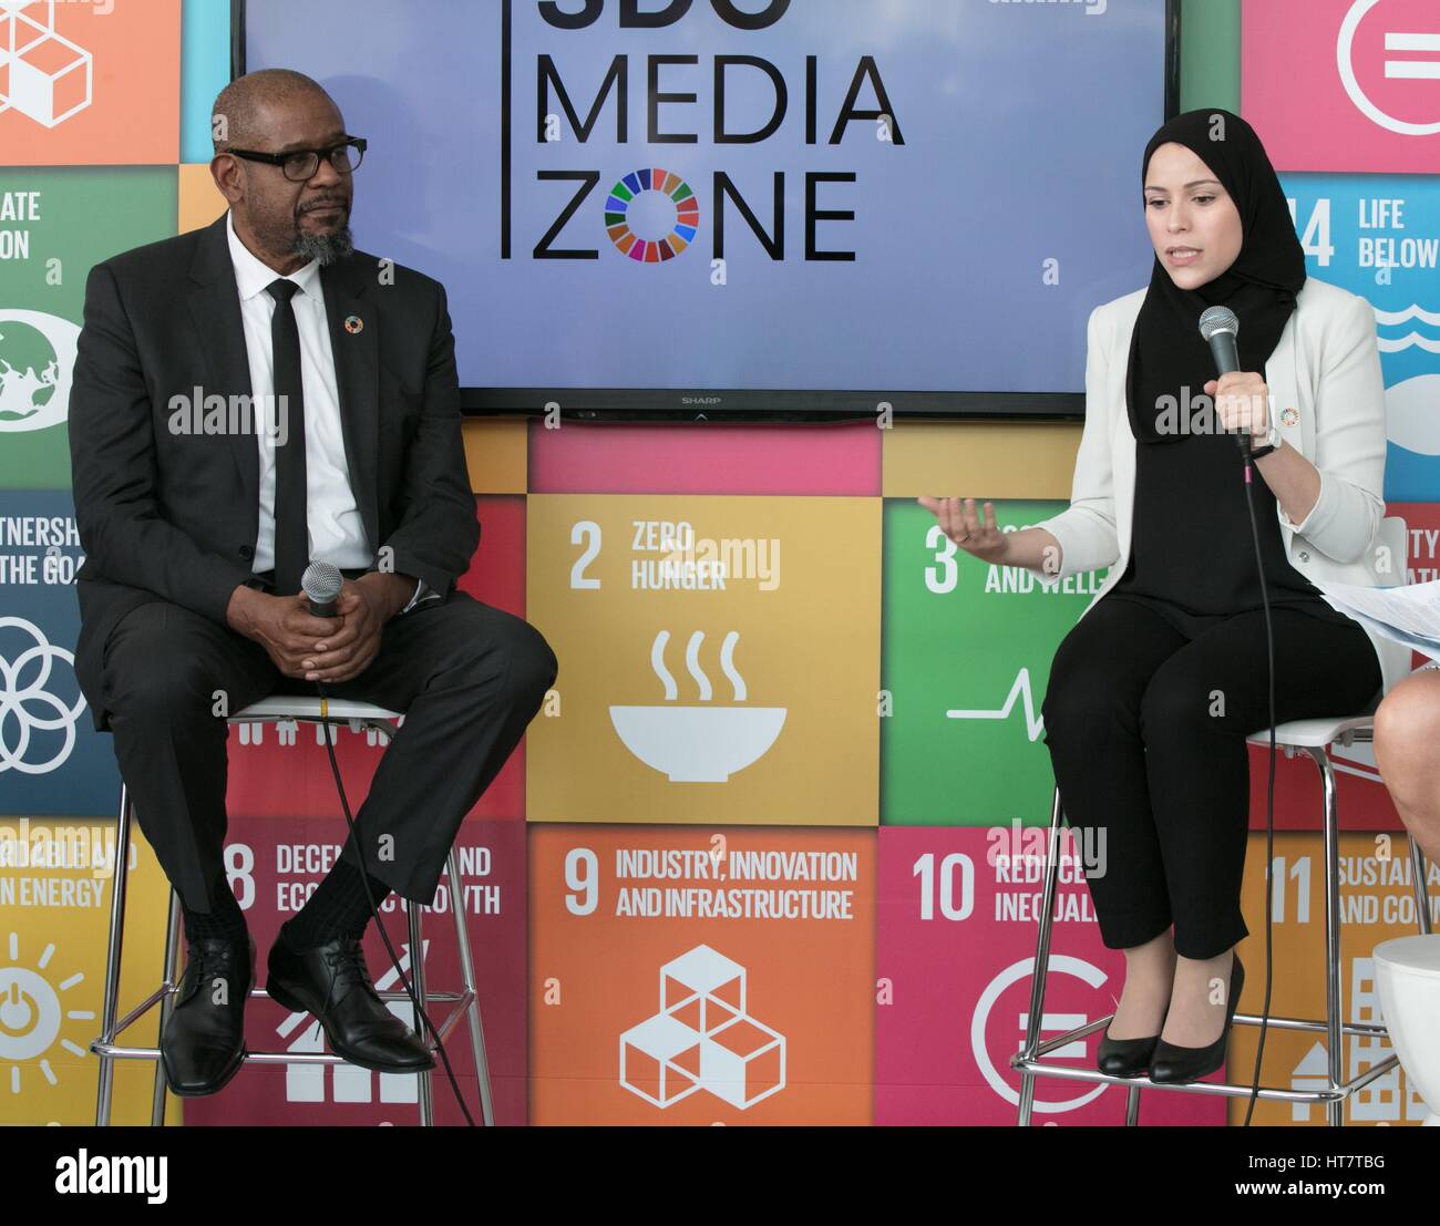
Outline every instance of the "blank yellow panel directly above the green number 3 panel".
<path id="1" fill-rule="evenodd" d="M 1068 498 L 1080 423 L 900 422 L 883 433 L 886 498 Z"/>

